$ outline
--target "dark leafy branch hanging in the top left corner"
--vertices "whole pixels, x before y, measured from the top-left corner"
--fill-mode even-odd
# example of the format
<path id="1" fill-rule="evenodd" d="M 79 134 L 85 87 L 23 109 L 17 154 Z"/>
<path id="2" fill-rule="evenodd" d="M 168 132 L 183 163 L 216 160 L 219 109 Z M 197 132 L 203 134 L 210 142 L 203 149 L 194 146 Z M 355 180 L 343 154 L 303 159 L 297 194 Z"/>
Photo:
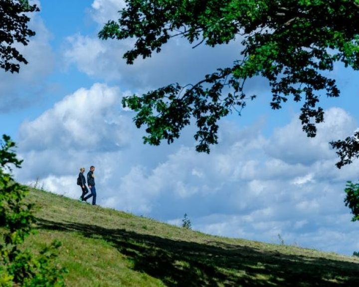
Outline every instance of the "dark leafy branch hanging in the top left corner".
<path id="1" fill-rule="evenodd" d="M 27 45 L 28 37 L 35 35 L 27 27 L 28 13 L 34 11 L 39 11 L 38 7 L 28 0 L 0 1 L 0 68 L 5 71 L 18 72 L 20 63 L 27 64 L 16 43 Z"/>

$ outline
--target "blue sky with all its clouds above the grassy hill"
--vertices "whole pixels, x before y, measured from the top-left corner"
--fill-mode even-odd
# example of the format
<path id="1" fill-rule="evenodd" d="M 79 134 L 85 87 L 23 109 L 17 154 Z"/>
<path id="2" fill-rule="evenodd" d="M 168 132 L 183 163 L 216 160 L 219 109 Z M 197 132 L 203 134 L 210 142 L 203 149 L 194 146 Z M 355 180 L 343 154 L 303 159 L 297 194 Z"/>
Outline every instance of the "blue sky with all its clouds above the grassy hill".
<path id="1" fill-rule="evenodd" d="M 16 179 L 78 198 L 79 168 L 96 166 L 102 206 L 215 235 L 352 255 L 359 250 L 359 223 L 344 206 L 347 180 L 359 163 L 338 170 L 328 142 L 358 128 L 358 73 L 337 65 L 331 76 L 342 95 L 321 99 L 326 120 L 309 139 L 298 121 L 300 105 L 270 109 L 265 80 L 247 83 L 258 98 L 242 116 L 221 121 L 212 152 L 194 150 L 193 127 L 173 145 L 142 144 L 143 130 L 124 110 L 124 95 L 172 82 L 189 83 L 239 53 L 238 41 L 192 49 L 183 39 L 162 53 L 126 65 L 131 41 L 102 41 L 97 33 L 116 19 L 122 0 L 34 1 L 36 36 L 21 47 L 29 64 L 19 74 L 1 71 L 0 130 L 11 135 L 24 159 Z M 54 4 L 55 3 L 55 4 Z"/>

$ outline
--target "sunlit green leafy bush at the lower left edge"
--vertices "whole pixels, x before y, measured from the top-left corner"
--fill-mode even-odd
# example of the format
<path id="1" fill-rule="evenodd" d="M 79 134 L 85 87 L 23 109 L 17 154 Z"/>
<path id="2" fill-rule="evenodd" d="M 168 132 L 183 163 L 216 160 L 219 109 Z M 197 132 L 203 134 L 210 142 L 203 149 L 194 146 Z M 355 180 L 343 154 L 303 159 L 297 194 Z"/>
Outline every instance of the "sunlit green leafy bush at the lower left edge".
<path id="1" fill-rule="evenodd" d="M 34 257 L 21 248 L 26 237 L 33 232 L 35 222 L 32 204 L 23 202 L 27 188 L 14 182 L 11 164 L 21 167 L 21 160 L 13 151 L 15 143 L 3 135 L 0 142 L 0 227 L 5 228 L 0 240 L 0 286 L 64 286 L 65 269 L 56 266 L 55 250 L 59 242 L 46 246 Z"/>

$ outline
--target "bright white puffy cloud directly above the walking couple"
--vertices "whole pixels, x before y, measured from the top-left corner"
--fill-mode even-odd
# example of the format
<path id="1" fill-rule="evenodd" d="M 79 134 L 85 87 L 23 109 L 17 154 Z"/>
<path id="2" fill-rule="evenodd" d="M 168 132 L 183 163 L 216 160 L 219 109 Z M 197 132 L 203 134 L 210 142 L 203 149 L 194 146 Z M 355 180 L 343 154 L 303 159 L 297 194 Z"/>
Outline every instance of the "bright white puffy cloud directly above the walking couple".
<path id="1" fill-rule="evenodd" d="M 19 130 L 23 149 L 46 150 L 51 146 L 111 150 L 126 146 L 130 134 L 129 119 L 119 114 L 121 94 L 117 88 L 94 84 L 79 89 L 33 121 L 24 122 Z M 109 109 L 109 107 L 117 107 Z M 41 139 L 41 140 L 39 140 Z"/>

